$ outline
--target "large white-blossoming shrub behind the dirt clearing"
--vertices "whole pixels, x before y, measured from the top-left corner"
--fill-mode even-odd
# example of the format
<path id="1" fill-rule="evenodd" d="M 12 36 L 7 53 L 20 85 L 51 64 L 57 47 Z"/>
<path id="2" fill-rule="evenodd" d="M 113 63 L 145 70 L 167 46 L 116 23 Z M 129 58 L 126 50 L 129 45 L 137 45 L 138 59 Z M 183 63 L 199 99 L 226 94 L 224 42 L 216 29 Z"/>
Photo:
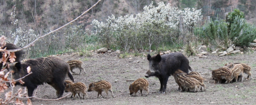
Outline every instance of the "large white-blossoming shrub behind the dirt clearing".
<path id="1" fill-rule="evenodd" d="M 196 21 L 202 17 L 200 10 L 189 8 L 184 11 L 170 4 L 158 3 L 155 7 L 153 2 L 145 6 L 144 11 L 139 14 L 119 16 L 114 15 L 107 22 L 99 22 L 94 19 L 92 25 L 95 27 L 94 35 L 98 36 L 99 42 L 108 48 L 115 45 L 128 51 L 130 48 L 151 45 L 159 46 L 161 41 L 169 40 L 168 35 L 178 31 L 179 15 L 184 14 L 184 24 L 189 30 L 193 29 Z"/>

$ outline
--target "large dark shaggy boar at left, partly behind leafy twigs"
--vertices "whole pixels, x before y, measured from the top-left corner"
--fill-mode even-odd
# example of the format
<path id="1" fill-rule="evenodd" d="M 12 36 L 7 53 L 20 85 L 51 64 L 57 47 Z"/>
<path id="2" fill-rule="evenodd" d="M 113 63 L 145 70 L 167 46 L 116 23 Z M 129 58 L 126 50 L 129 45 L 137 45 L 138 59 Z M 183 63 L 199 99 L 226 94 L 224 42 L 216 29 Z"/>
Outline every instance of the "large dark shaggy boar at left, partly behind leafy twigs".
<path id="1" fill-rule="evenodd" d="M 53 86 L 58 92 L 58 98 L 62 97 L 65 85 L 66 75 L 74 82 L 74 78 L 70 72 L 69 64 L 59 57 L 40 57 L 29 59 L 25 62 L 11 63 L 8 70 L 13 70 L 13 78 L 19 79 L 28 74 L 27 67 L 31 67 L 32 74 L 23 78 L 25 82 L 22 86 L 28 88 L 28 96 L 31 97 L 38 85 L 47 83 Z M 19 84 L 19 83 L 16 83 Z"/>

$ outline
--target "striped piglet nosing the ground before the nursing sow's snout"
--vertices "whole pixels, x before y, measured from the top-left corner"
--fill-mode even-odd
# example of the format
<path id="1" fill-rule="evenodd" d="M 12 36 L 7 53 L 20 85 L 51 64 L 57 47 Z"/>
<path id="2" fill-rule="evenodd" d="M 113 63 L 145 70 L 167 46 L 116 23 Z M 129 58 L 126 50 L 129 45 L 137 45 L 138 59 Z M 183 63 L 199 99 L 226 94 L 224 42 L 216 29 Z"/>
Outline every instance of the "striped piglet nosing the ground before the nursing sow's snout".
<path id="1" fill-rule="evenodd" d="M 148 81 L 146 79 L 143 78 L 139 78 L 137 80 L 135 80 L 133 83 L 130 84 L 129 86 L 129 90 L 130 90 L 130 95 L 132 95 L 134 93 L 134 97 L 136 96 L 136 93 L 138 92 L 138 90 L 140 90 L 140 96 L 142 96 L 142 90 L 146 90 L 146 96 L 148 94 Z"/>

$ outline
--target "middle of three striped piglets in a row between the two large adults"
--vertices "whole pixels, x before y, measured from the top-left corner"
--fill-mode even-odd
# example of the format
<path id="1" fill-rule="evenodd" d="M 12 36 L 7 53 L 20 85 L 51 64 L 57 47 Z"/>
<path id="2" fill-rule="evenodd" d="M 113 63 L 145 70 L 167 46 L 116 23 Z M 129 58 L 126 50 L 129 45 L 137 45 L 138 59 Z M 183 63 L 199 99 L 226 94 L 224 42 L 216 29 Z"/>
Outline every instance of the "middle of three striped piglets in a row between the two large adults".
<path id="1" fill-rule="evenodd" d="M 106 96 L 105 97 L 102 95 L 102 91 L 103 90 L 106 92 Z M 100 94 L 101 94 L 101 96 L 103 98 L 107 98 L 107 96 L 109 94 L 108 91 L 110 91 L 112 97 L 114 98 L 114 94 L 113 94 L 113 91 L 112 91 L 112 85 L 110 84 L 110 82 L 105 81 L 105 80 L 101 80 L 101 81 L 98 81 L 98 82 L 90 83 L 89 88 L 88 88 L 87 91 L 88 92 L 90 92 L 90 91 L 97 91 L 98 92 L 97 98 L 99 98 Z"/>

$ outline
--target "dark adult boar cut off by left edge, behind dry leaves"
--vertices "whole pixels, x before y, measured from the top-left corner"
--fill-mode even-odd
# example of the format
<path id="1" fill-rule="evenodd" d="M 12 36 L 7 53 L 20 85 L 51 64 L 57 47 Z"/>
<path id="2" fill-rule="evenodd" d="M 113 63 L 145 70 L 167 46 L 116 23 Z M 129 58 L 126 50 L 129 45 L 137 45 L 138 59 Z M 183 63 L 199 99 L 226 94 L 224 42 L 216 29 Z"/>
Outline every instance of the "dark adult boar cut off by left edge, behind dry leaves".
<path id="1" fill-rule="evenodd" d="M 14 49 L 20 49 L 20 47 L 18 47 L 17 45 L 14 45 L 12 43 L 6 43 L 5 46 L 2 48 L 2 49 L 5 49 L 6 50 L 14 50 Z M 15 62 L 21 62 L 21 57 L 22 55 L 24 54 L 25 52 L 23 50 L 20 50 L 20 51 L 17 51 L 17 52 L 14 52 L 16 58 L 15 58 Z M 3 53 L 1 52 L 0 53 L 0 58 L 3 57 Z M 7 62 L 10 62 L 9 61 L 9 58 L 7 59 Z M 3 67 L 3 62 L 0 63 L 0 69 L 2 69 Z"/>

